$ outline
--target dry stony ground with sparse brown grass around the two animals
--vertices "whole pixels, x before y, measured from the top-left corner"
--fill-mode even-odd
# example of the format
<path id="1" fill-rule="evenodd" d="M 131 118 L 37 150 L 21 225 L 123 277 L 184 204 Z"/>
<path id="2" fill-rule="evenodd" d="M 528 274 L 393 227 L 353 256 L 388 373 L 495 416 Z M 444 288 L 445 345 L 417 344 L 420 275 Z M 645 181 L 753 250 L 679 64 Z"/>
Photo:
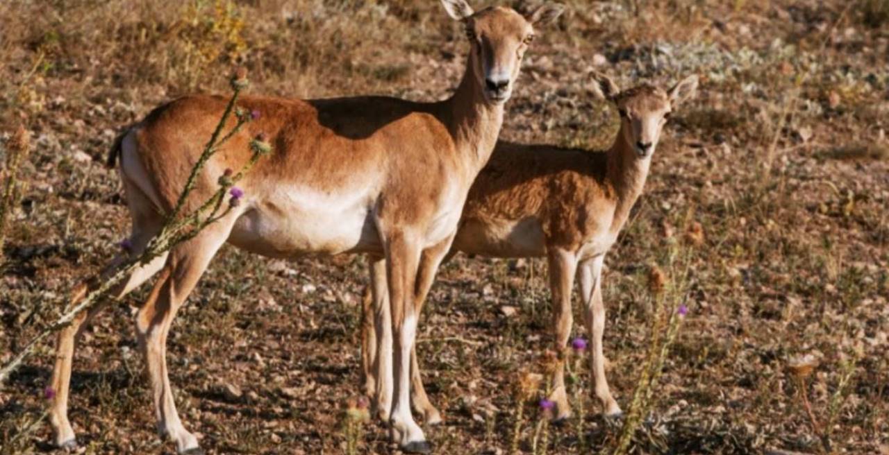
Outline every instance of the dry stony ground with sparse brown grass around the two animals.
<path id="1" fill-rule="evenodd" d="M 624 86 L 701 76 L 605 261 L 605 353 L 626 410 L 659 307 L 648 266 L 669 272 L 677 245 L 688 251 L 677 299 L 689 312 L 635 450 L 889 452 L 889 3 L 565 3 L 525 61 L 505 138 L 609 143 L 616 114 L 590 96 L 587 68 Z M 461 74 L 462 36 L 431 0 L 0 3 L 0 163 L 19 124 L 33 144 L 0 271 L 0 362 L 127 232 L 102 165 L 124 124 L 182 93 L 224 92 L 233 63 L 251 68 L 253 92 L 439 99 Z M 543 260 L 462 256 L 441 270 L 418 348 L 445 414 L 428 431 L 436 453 L 509 451 L 523 405 L 518 448 L 532 450 L 540 412 L 512 390 L 546 367 L 545 272 Z M 341 411 L 360 393 L 365 282 L 361 258 L 223 249 L 169 343 L 182 417 L 205 449 L 388 452 L 378 424 L 356 431 Z M 146 292 L 109 308 L 77 351 L 70 416 L 87 453 L 172 450 L 154 434 L 132 335 Z M 33 425 L 51 361 L 44 347 L 0 389 L 0 452 L 51 450 Z M 550 453 L 613 447 L 619 427 L 589 396 L 583 409 L 549 427 Z"/>

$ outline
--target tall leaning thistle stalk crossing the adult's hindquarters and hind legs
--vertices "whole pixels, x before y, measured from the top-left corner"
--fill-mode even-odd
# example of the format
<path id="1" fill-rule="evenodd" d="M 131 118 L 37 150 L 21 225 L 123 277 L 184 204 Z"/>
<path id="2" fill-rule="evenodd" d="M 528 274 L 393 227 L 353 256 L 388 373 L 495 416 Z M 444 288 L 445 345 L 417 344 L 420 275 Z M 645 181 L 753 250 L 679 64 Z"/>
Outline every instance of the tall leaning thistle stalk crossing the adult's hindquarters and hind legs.
<path id="1" fill-rule="evenodd" d="M 108 275 L 107 278 L 103 278 L 98 287 L 87 293 L 84 296 L 84 299 L 81 299 L 76 303 L 71 302 L 68 304 L 62 311 L 62 315 L 56 318 L 54 322 L 46 324 L 42 330 L 38 331 L 37 334 L 24 345 L 18 354 L 14 355 L 8 363 L 4 364 L 3 368 L 0 369 L 0 385 L 3 385 L 6 379 L 9 379 L 12 371 L 15 371 L 28 355 L 31 355 L 34 352 L 37 345 L 42 340 L 52 333 L 60 331 L 63 327 L 66 327 L 74 320 L 76 315 L 94 307 L 102 299 L 108 298 L 108 294 L 115 289 L 118 284 L 122 283 L 124 279 L 130 276 L 138 267 L 148 264 L 152 259 L 164 254 L 166 251 L 170 251 L 179 243 L 194 238 L 204 228 L 228 215 L 228 213 L 240 203 L 241 198 L 244 196 L 244 191 L 237 188 L 235 186 L 236 183 L 243 179 L 247 172 L 250 172 L 252 166 L 256 164 L 262 156 L 266 156 L 272 151 L 272 147 L 268 143 L 268 137 L 264 134 L 260 134 L 251 140 L 250 148 L 252 155 L 241 169 L 237 172 L 226 170 L 218 180 L 219 188 L 217 188 L 216 192 L 204 201 L 203 204 L 198 206 L 197 209 L 191 212 L 185 211 L 188 196 L 194 190 L 197 177 L 204 170 L 205 164 L 207 164 L 210 158 L 220 150 L 220 147 L 223 144 L 242 130 L 244 124 L 251 122 L 254 118 L 259 118 L 258 113 L 254 114 L 252 112 L 246 112 L 243 108 L 237 107 L 238 96 L 249 85 L 250 82 L 247 79 L 246 69 L 236 69 L 235 74 L 230 80 L 230 86 L 233 93 L 228 100 L 228 105 L 220 118 L 219 124 L 216 125 L 216 128 L 212 132 L 210 140 L 204 146 L 204 151 L 197 159 L 194 167 L 192 167 L 191 173 L 188 176 L 185 187 L 182 188 L 182 192 L 180 193 L 175 207 L 172 212 L 166 214 L 166 221 L 164 222 L 164 226 L 160 229 L 160 232 L 148 242 L 145 250 L 139 255 L 132 255 L 132 251 L 130 251 L 132 249 L 132 244 L 128 241 L 124 240 L 124 242 L 120 243 L 121 248 L 131 252 L 130 257 L 116 267 L 114 272 Z M 232 115 L 236 116 L 236 124 L 231 130 L 226 132 L 225 125 L 228 123 L 228 120 Z M 229 196 L 228 204 L 223 206 L 226 200 L 226 195 Z"/>

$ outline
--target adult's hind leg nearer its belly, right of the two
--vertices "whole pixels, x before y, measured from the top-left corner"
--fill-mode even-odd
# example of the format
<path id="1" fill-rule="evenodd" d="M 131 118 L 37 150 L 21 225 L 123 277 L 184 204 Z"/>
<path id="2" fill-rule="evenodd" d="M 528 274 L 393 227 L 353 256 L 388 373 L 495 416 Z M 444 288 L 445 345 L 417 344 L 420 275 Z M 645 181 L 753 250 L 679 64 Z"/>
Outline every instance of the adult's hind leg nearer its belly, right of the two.
<path id="1" fill-rule="evenodd" d="M 136 315 L 136 334 L 145 355 L 148 379 L 151 384 L 158 433 L 176 443 L 179 453 L 202 453 L 195 435 L 182 426 L 172 387 L 167 373 L 166 339 L 170 325 L 188 294 L 209 265 L 210 260 L 225 243 L 230 222 L 225 221 L 205 228 L 195 238 L 180 243 L 171 252 L 161 276 L 145 305 Z"/>

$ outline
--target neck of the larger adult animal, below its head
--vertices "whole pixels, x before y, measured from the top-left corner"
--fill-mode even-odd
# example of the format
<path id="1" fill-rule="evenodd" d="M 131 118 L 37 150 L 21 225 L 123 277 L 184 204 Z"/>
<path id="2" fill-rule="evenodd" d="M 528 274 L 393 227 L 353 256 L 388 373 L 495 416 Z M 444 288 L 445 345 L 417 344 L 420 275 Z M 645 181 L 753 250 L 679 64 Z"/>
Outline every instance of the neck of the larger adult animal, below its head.
<path id="1" fill-rule="evenodd" d="M 466 72 L 453 96 L 443 101 L 443 116 L 462 156 L 468 158 L 475 174 L 488 162 L 497 144 L 503 124 L 503 105 L 491 104 L 478 84 L 473 53 L 469 53 Z"/>

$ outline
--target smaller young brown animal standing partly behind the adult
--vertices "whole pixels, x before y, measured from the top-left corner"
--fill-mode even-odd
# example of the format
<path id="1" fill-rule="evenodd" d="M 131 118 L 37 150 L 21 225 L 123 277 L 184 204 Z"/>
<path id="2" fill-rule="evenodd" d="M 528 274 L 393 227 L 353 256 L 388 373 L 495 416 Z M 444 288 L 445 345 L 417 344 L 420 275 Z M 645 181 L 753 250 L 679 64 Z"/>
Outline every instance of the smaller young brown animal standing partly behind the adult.
<path id="1" fill-rule="evenodd" d="M 592 339 L 595 394 L 605 415 L 616 415 L 621 407 L 608 388 L 602 353 L 602 265 L 642 193 L 654 148 L 670 112 L 693 95 L 698 78 L 689 76 L 666 92 L 650 84 L 621 92 L 608 76 L 594 72 L 591 77 L 593 92 L 613 102 L 621 114 L 621 129 L 612 147 L 605 152 L 588 152 L 498 143 L 469 190 L 450 254 L 463 251 L 497 258 L 545 256 L 557 351 L 565 349 L 571 333 L 571 291 L 576 275 L 581 284 L 583 318 Z M 432 259 L 424 257 L 420 262 L 421 276 L 427 269 L 429 273 L 436 270 L 439 262 Z M 388 380 L 375 376 L 372 369 L 372 364 L 379 363 L 379 357 L 390 350 L 389 339 L 380 336 L 380 330 L 374 327 L 386 323 L 388 316 L 382 289 L 386 285 L 384 272 L 382 261 L 372 265 L 372 297 L 364 299 L 364 387 L 371 395 L 374 390 L 386 388 L 380 387 L 380 380 Z M 372 311 L 377 313 L 376 318 Z M 440 414 L 423 390 L 414 352 L 411 379 L 415 409 L 428 423 L 440 421 Z M 550 399 L 556 402 L 557 419 L 571 415 L 562 368 L 556 372 Z"/>

